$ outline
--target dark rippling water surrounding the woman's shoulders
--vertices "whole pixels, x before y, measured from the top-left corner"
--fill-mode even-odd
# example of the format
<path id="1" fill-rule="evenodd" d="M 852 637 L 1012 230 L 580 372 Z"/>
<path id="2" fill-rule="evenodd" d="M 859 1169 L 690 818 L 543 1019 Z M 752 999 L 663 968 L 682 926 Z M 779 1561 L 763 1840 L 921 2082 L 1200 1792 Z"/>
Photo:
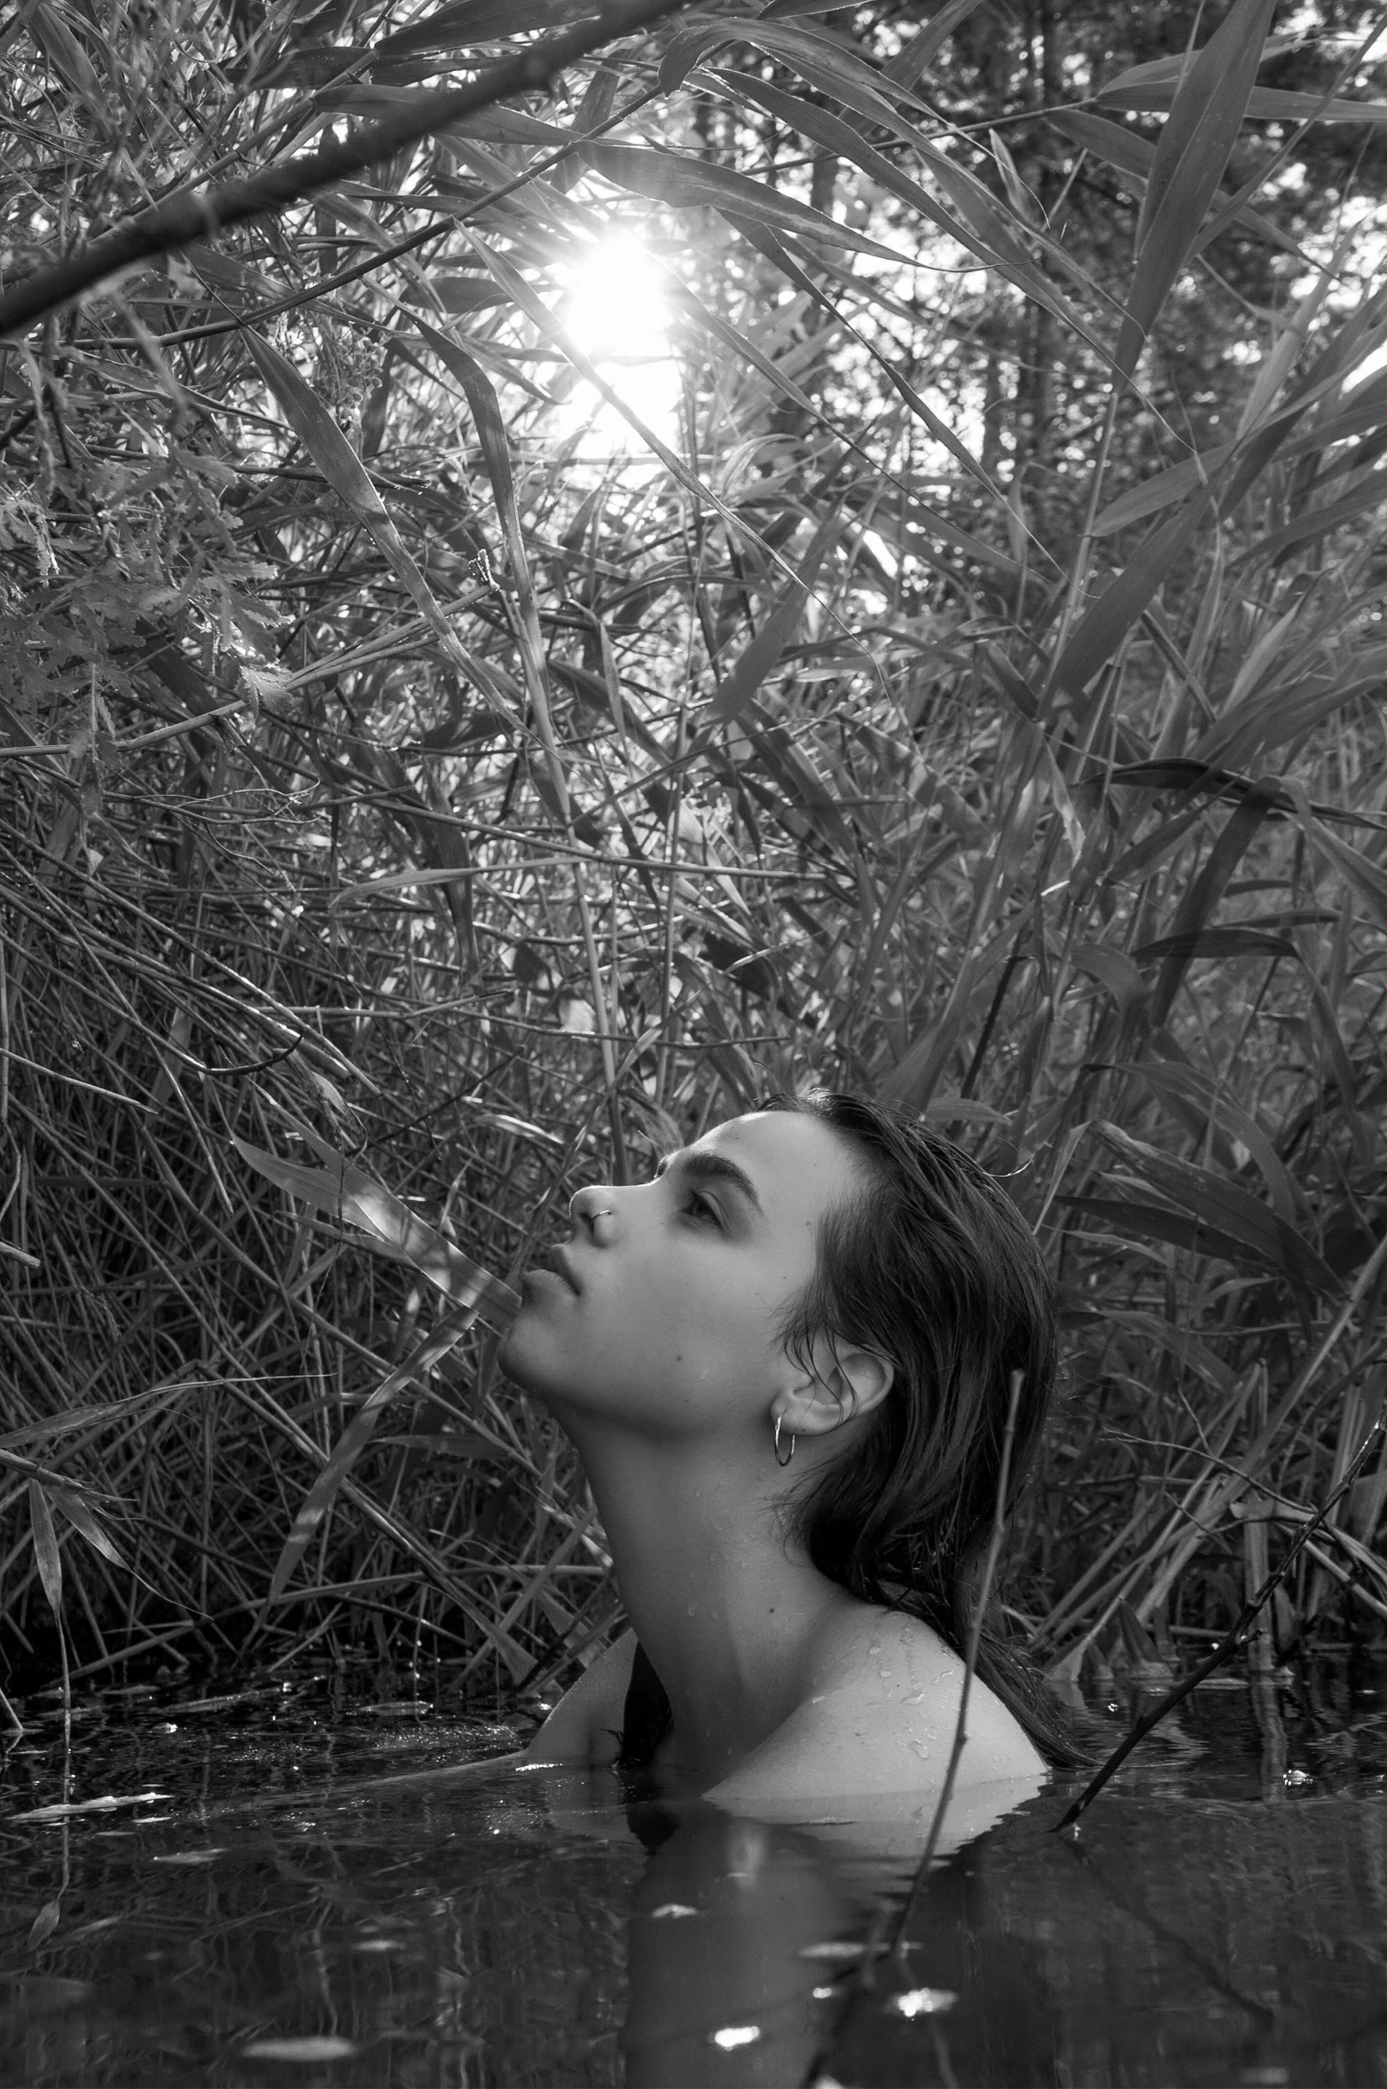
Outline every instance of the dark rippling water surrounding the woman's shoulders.
<path id="1" fill-rule="evenodd" d="M 1335 1688 L 1289 1782 L 1247 1694 L 1201 1690 L 1078 1840 L 1061 1788 L 1011 1813 L 848 2005 L 909 1878 L 879 1834 L 675 1824 L 612 1774 L 372 1788 L 514 1736 L 313 1680 L 88 1700 L 71 1799 L 123 1803 L 23 1820 L 63 1794 L 38 1700 L 0 1784 L 0 2083 L 1387 2083 L 1387 1700 Z"/>

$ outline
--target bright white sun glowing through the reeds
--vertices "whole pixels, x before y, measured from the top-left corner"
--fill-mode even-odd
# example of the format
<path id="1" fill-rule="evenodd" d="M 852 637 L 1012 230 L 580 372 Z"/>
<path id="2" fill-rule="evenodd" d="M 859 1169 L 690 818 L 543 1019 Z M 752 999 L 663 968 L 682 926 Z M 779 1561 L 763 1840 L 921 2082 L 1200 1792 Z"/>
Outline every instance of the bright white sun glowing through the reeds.
<path id="1" fill-rule="evenodd" d="M 679 430 L 679 366 L 671 347 L 664 272 L 633 232 L 610 232 L 570 269 L 558 311 L 583 351 L 662 443 Z M 589 384 L 566 403 L 570 432 L 585 453 L 631 453 L 641 439 L 631 422 Z"/>

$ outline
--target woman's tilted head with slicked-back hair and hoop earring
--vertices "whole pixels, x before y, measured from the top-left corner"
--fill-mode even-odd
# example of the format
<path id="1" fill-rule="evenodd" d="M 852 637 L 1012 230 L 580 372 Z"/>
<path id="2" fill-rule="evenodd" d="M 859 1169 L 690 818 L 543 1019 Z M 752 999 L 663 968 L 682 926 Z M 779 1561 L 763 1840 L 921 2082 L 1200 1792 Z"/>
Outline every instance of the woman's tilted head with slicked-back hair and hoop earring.
<path id="1" fill-rule="evenodd" d="M 777 1099 L 671 1153 L 652 1182 L 572 1199 L 503 1349 L 566 1421 L 804 1443 L 796 1521 L 863 1594 L 963 1563 L 1055 1375 L 1051 1289 L 996 1182 L 938 1132 L 852 1095 Z M 817 1481 L 817 1483 L 815 1483 Z M 790 1481 L 785 1481 L 790 1489 Z"/>

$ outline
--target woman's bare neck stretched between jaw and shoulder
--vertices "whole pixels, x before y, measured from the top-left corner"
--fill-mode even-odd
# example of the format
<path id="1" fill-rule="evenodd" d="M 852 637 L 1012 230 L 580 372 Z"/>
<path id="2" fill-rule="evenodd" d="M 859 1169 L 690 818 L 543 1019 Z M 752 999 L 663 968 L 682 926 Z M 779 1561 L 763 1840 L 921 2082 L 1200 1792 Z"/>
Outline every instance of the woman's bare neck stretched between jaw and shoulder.
<path id="1" fill-rule="evenodd" d="M 785 1533 L 783 1494 L 687 1443 L 581 1429 L 622 1602 L 675 1715 L 673 1753 L 714 1782 L 813 1686 L 825 1623 L 852 1598 Z"/>

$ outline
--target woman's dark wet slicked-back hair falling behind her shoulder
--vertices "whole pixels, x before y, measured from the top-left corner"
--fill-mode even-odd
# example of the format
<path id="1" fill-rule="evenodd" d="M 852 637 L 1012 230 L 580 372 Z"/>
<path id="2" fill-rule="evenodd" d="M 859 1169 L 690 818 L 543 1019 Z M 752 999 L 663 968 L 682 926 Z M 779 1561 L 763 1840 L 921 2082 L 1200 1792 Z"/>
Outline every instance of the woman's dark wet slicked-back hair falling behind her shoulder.
<path id="1" fill-rule="evenodd" d="M 854 1441 L 798 1496 L 794 1529 L 819 1573 L 863 1602 L 923 1619 L 965 1652 L 1021 1377 L 1005 1512 L 1026 1483 L 1057 1375 L 1055 1289 L 1001 1184 L 917 1118 L 815 1090 L 765 1107 L 819 1118 L 852 1147 L 863 1189 L 819 1228 L 817 1268 L 785 1322 L 808 1364 L 815 1337 L 875 1349 L 892 1389 Z M 990 1604 L 994 1611 L 994 1602 Z M 1038 1669 L 988 1619 L 978 1675 L 1057 1767 L 1090 1746 Z"/>

